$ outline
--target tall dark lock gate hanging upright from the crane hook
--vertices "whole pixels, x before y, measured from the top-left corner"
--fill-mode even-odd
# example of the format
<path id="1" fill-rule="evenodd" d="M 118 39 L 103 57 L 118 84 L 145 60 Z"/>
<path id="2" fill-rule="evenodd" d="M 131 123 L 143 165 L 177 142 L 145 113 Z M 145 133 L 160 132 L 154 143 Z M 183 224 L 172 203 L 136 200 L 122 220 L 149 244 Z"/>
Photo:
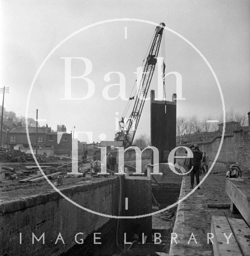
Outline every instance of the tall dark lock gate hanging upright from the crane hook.
<path id="1" fill-rule="evenodd" d="M 173 102 L 160 101 L 151 90 L 151 146 L 159 150 L 159 163 L 167 162 L 176 147 L 176 95 Z"/>

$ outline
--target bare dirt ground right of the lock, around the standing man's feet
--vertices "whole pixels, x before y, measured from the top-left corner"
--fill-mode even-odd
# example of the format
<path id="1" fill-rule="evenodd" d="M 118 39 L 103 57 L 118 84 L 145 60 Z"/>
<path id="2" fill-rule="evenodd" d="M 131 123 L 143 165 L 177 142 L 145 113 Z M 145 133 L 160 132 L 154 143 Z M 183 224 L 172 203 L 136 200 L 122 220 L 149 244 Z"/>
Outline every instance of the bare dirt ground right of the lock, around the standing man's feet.
<path id="1" fill-rule="evenodd" d="M 200 176 L 200 180 L 204 177 L 204 174 Z M 243 179 L 250 178 L 250 172 L 244 171 L 242 173 Z M 185 178 L 185 194 L 190 192 L 190 176 Z M 196 183 L 195 183 L 196 184 Z M 200 190 L 196 190 L 190 195 L 183 204 L 185 210 L 185 220 L 183 228 L 187 230 L 187 238 L 190 237 L 190 232 L 196 235 L 198 242 L 197 250 L 199 253 L 197 255 L 212 255 L 212 244 L 207 244 L 207 233 L 211 232 L 211 217 L 215 216 L 225 216 L 227 218 L 238 218 L 242 219 L 241 214 L 232 213 L 230 208 L 210 208 L 208 204 L 230 204 L 230 198 L 225 192 L 226 188 L 226 174 L 209 174 L 206 180 L 201 184 Z M 189 213 L 192 210 L 199 213 L 199 216 L 191 216 Z M 195 212 L 194 212 L 195 214 Z M 187 216 L 187 218 L 186 218 Z M 185 245 L 184 249 L 187 253 L 186 255 L 194 255 L 192 251 L 192 246 Z M 195 254 L 196 255 L 196 254 Z"/>

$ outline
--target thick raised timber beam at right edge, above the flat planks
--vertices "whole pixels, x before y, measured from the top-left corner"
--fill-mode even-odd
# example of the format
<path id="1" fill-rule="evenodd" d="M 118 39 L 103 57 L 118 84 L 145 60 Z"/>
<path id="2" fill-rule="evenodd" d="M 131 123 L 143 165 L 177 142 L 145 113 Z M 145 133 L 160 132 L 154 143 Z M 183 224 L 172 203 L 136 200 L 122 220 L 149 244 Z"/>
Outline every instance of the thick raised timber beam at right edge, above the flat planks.
<path id="1" fill-rule="evenodd" d="M 248 189 L 247 184 L 249 184 Z M 248 196 L 250 196 L 250 179 L 246 179 L 244 182 L 226 179 L 226 194 L 246 220 L 248 226 L 250 226 L 250 201 L 248 200 Z"/>

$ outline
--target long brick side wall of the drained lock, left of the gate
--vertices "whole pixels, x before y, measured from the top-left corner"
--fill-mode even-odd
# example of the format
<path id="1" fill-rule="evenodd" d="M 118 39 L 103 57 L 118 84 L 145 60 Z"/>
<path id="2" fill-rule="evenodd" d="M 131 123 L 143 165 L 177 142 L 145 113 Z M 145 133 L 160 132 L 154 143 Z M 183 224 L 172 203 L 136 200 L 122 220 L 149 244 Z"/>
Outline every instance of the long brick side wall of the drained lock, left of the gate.
<path id="1" fill-rule="evenodd" d="M 61 190 L 74 202 L 101 212 L 118 213 L 118 178 L 71 186 Z M 0 204 L 0 256 L 3 255 L 111 255 L 115 249 L 116 219 L 91 214 L 74 206 L 57 192 L 30 196 Z M 20 241 L 22 233 L 22 244 Z M 34 240 L 44 233 L 45 243 Z M 59 232 L 65 244 L 58 240 Z M 75 234 L 83 232 L 83 244 L 75 242 Z M 102 244 L 93 244 L 93 232 L 101 232 Z M 65 253 L 68 250 L 71 253 Z"/>

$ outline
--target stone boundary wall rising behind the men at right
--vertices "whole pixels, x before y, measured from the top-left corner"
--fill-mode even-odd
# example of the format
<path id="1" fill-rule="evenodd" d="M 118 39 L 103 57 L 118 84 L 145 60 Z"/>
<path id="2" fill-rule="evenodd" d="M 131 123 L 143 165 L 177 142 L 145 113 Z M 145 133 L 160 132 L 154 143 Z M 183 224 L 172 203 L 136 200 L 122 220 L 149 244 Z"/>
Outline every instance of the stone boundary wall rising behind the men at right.
<path id="1" fill-rule="evenodd" d="M 214 160 L 220 145 L 221 137 L 214 138 L 211 142 L 193 142 L 178 146 L 198 144 L 200 150 L 205 151 L 210 158 L 209 167 Z M 177 150 L 177 156 L 185 156 L 185 149 Z M 226 172 L 230 165 L 235 164 L 241 170 L 250 170 L 250 131 L 234 132 L 224 137 L 222 148 L 212 172 Z M 183 164 L 184 159 L 177 159 Z"/>

